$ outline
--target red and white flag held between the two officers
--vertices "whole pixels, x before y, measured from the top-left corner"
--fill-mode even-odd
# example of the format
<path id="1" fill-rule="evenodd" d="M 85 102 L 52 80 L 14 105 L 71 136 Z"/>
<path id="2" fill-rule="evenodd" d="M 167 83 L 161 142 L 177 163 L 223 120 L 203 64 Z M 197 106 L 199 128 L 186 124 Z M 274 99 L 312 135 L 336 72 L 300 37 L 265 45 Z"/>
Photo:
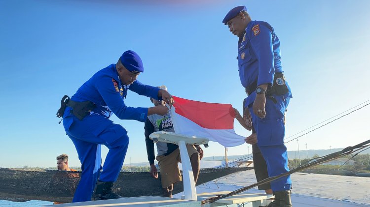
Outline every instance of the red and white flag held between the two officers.
<path id="1" fill-rule="evenodd" d="M 234 131 L 235 112 L 231 104 L 205 103 L 173 96 L 170 110 L 175 132 L 208 138 L 224 147 L 245 143 Z"/>

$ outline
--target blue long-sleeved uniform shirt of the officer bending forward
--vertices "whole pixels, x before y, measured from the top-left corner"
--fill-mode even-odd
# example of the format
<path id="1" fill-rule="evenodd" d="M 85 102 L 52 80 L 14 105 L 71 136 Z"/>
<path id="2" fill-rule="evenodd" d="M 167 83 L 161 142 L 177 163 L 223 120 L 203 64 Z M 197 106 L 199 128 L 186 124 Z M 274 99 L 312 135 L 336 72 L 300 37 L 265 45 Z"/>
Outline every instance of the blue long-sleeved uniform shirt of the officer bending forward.
<path id="1" fill-rule="evenodd" d="M 157 100 L 161 99 L 158 97 L 158 88 L 144 85 L 138 80 L 131 85 L 123 85 L 118 77 L 115 64 L 111 64 L 86 81 L 72 96 L 71 100 L 95 103 L 96 107 L 92 113 L 95 112 L 106 118 L 110 118 L 111 112 L 113 112 L 120 119 L 145 122 L 148 116 L 148 108 L 134 108 L 125 105 L 123 99 L 126 97 L 128 89 L 140 95 Z M 69 113 L 65 113 L 65 116 L 68 115 Z"/>

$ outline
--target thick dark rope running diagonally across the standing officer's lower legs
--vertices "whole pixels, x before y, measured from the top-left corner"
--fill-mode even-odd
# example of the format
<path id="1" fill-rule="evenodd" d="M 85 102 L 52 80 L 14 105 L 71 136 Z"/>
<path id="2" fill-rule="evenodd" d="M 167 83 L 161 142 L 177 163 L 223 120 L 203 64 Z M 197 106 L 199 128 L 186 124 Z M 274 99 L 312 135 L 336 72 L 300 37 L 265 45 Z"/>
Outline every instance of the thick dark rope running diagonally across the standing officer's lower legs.
<path id="1" fill-rule="evenodd" d="M 251 188 L 254 188 L 254 187 L 258 186 L 258 185 L 262 185 L 262 184 L 271 182 L 273 180 L 276 180 L 276 179 L 278 179 L 280 177 L 289 176 L 289 175 L 291 175 L 293 173 L 296 173 L 298 171 L 302 171 L 302 170 L 304 170 L 306 168 L 313 167 L 313 166 L 319 165 L 319 164 L 324 163 L 324 162 L 329 162 L 329 161 L 334 160 L 334 159 L 336 159 L 338 157 L 342 157 L 344 155 L 348 155 L 348 154 L 351 154 L 352 152 L 361 150 L 363 148 L 368 148 L 368 147 L 370 147 L 370 140 L 365 141 L 363 143 L 360 143 L 358 145 L 355 145 L 354 147 L 347 147 L 347 148 L 342 149 L 341 151 L 334 152 L 334 153 L 331 153 L 331 154 L 328 154 L 328 155 L 325 155 L 325 156 L 322 156 L 322 157 L 315 158 L 315 159 L 310 160 L 309 162 L 307 162 L 307 164 L 301 165 L 298 168 L 291 170 L 290 172 L 286 172 L 286 173 L 283 173 L 281 175 L 274 176 L 274 177 L 268 177 L 268 178 L 263 179 L 263 180 L 261 180 L 261 181 L 259 181 L 257 183 L 254 183 L 252 185 L 249 185 L 249 186 L 240 188 L 240 189 L 235 190 L 235 191 L 233 191 L 231 193 L 228 193 L 226 195 L 219 195 L 218 197 L 212 197 L 212 198 L 203 200 L 202 201 L 202 205 L 208 204 L 208 203 L 211 204 L 213 202 L 216 202 L 217 200 L 220 200 L 220 199 L 223 199 L 223 198 L 226 198 L 226 197 L 229 197 L 229 196 L 236 195 L 236 194 L 241 193 L 243 191 L 246 191 L 246 190 L 249 190 Z"/>

